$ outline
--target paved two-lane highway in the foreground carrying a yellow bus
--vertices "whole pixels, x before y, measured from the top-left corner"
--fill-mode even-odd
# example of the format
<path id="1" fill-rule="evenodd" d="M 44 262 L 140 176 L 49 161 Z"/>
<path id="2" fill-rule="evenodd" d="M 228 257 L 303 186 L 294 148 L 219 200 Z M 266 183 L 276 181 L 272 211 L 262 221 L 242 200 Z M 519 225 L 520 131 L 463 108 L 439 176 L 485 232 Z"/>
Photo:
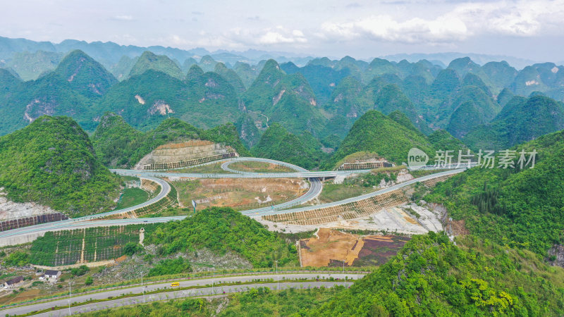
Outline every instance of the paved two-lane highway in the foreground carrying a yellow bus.
<path id="1" fill-rule="evenodd" d="M 299 282 L 299 283 L 293 283 L 293 282 L 284 282 L 283 278 L 286 278 L 288 280 L 290 279 L 295 279 L 295 278 L 307 278 L 307 279 L 315 279 L 319 276 L 319 278 L 335 278 L 335 279 L 339 279 L 339 280 L 344 280 L 345 277 L 348 278 L 348 280 L 358 280 L 362 277 L 364 277 L 364 274 L 358 274 L 358 273 L 297 273 L 297 274 L 288 274 L 288 273 L 281 273 L 281 274 L 266 274 L 266 275 L 244 275 L 244 276 L 221 276 L 215 279 L 212 278 L 207 278 L 207 279 L 192 279 L 192 280 L 183 280 L 183 281 L 179 281 L 180 283 L 180 287 L 190 287 L 190 286 L 197 286 L 197 285 L 212 285 L 215 283 L 219 283 L 219 282 L 253 282 L 257 279 L 259 280 L 269 280 L 269 279 L 273 279 L 273 280 L 280 280 L 280 286 L 283 286 L 286 284 L 286 287 L 300 287 L 300 286 L 304 286 L 307 287 L 308 285 L 310 287 L 317 287 L 317 286 L 322 286 L 322 285 L 326 285 L 329 283 L 329 285 L 331 285 L 331 282 Z M 349 283 L 350 284 L 350 283 Z M 202 296 L 202 295 L 207 295 L 207 294 L 223 294 L 223 291 L 227 292 L 242 292 L 244 290 L 247 289 L 247 287 L 257 287 L 258 285 L 262 285 L 262 283 L 257 282 L 257 284 L 255 285 L 232 285 L 232 286 L 217 286 L 217 287 L 207 287 L 204 289 L 195 289 L 195 290 L 184 290 L 184 291 L 177 291 L 176 295 L 180 295 L 179 297 L 190 297 L 190 296 Z M 334 285 L 334 284 L 332 284 Z M 276 283 L 274 284 L 266 284 L 264 286 L 274 286 L 274 288 L 276 288 Z M 145 285 L 145 292 L 150 292 L 152 290 L 157 290 L 157 289 L 164 289 L 164 288 L 168 288 L 168 289 L 174 289 L 174 287 L 171 287 L 171 282 L 161 282 L 158 284 L 152 284 L 152 285 Z M 85 302 L 89 299 L 107 299 L 108 297 L 118 297 L 121 294 L 128 294 L 128 293 L 142 293 L 142 287 L 136 286 L 136 287 L 128 287 L 125 289 L 119 289 L 119 290 L 108 290 L 106 292 L 99 292 L 99 293 L 90 293 L 90 294 L 82 294 L 82 295 L 78 295 L 75 297 L 71 298 L 71 303 L 72 302 Z M 172 292 L 165 292 L 165 293 L 159 293 L 159 294 L 154 294 L 152 295 L 152 297 L 150 297 L 153 300 L 161 300 L 161 299 L 166 299 L 166 295 L 168 294 L 168 297 L 174 297 L 175 294 L 173 294 Z M 77 306 L 75 307 L 75 309 L 73 310 L 73 308 L 71 307 L 71 312 L 75 311 L 78 312 L 81 309 L 84 308 L 88 308 L 88 309 L 92 309 L 92 308 L 96 308 L 96 307 L 100 307 L 100 309 L 104 309 L 104 306 L 109 306 L 109 307 L 113 307 L 114 304 L 121 304 L 122 306 L 128 305 L 128 304 L 134 304 L 132 301 L 135 299 L 135 301 L 137 301 L 137 303 L 142 302 L 142 296 L 140 297 L 132 297 L 132 298 L 125 298 L 125 299 L 116 299 L 114 301 L 111 302 L 103 302 L 103 303 L 96 303 L 96 304 L 90 304 L 87 306 Z M 149 299 L 149 295 L 145 295 L 145 299 Z M 62 299 L 56 299 L 52 302 L 41 302 L 38 304 L 32 304 L 32 305 L 27 305 L 27 306 L 17 306 L 17 307 L 12 307 L 12 308 L 8 308 L 8 309 L 4 309 L 4 310 L 0 310 L 1 314 L 10 314 L 10 315 L 14 315 L 14 314 L 24 314 L 24 313 L 30 313 L 32 311 L 39 311 L 41 309 L 46 309 L 49 307 L 53 307 L 53 306 L 65 306 L 68 305 L 68 298 L 62 298 Z M 68 315 L 68 309 L 62 309 L 59 311 L 55 311 L 55 312 L 49 312 L 46 314 L 43 314 L 42 316 L 59 316 L 59 313 L 61 314 L 60 316 L 66 316 Z M 53 315 L 51 315 L 53 314 Z"/>

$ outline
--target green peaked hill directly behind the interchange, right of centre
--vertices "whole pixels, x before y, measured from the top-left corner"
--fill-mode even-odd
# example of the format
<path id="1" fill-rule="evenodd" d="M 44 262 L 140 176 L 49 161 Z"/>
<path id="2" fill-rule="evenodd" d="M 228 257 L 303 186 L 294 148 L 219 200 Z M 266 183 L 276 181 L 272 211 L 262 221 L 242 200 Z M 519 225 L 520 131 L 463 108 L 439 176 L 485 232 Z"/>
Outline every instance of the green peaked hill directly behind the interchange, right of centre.
<path id="1" fill-rule="evenodd" d="M 434 149 L 424 136 L 372 110 L 358 118 L 327 167 L 333 168 L 336 162 L 357 151 L 371 151 L 401 164 L 407 161 L 407 152 L 412 147 L 434 157 Z"/>

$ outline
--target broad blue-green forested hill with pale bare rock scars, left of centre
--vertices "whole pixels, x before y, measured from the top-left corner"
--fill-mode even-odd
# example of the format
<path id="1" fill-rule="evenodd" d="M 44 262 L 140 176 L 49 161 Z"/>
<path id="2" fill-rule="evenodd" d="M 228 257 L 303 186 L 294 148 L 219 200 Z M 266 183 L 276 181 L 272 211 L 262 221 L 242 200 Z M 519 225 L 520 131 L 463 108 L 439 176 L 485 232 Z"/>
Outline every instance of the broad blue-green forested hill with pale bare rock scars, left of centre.
<path id="1" fill-rule="evenodd" d="M 180 118 L 198 128 L 212 128 L 235 122 L 240 116 L 237 93 L 216 73 L 188 72 L 188 82 L 156 70 L 111 87 L 97 104 L 96 111 L 120 113 L 127 123 L 140 130 L 156 128 L 168 117 Z"/>

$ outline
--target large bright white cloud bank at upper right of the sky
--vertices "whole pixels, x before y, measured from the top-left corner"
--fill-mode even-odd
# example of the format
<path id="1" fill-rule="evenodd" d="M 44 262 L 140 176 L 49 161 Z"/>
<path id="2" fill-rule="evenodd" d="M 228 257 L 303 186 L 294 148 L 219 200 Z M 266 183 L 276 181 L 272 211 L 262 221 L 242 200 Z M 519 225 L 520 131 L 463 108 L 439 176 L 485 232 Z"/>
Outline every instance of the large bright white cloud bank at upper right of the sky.
<path id="1" fill-rule="evenodd" d="M 534 36 L 544 28 L 562 26 L 564 0 L 462 3 L 436 18 L 371 15 L 345 22 L 321 24 L 326 40 L 374 39 L 386 42 L 441 44 L 484 33 Z"/>

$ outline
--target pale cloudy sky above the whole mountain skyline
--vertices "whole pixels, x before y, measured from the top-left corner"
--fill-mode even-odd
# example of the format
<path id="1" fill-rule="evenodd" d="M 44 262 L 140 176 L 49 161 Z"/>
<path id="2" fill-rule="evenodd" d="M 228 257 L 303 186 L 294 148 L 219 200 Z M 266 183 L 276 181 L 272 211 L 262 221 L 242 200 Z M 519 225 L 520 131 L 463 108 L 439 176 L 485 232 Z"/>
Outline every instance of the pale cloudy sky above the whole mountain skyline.
<path id="1" fill-rule="evenodd" d="M 0 36 L 370 58 L 456 51 L 564 61 L 564 0 L 1 0 Z"/>

